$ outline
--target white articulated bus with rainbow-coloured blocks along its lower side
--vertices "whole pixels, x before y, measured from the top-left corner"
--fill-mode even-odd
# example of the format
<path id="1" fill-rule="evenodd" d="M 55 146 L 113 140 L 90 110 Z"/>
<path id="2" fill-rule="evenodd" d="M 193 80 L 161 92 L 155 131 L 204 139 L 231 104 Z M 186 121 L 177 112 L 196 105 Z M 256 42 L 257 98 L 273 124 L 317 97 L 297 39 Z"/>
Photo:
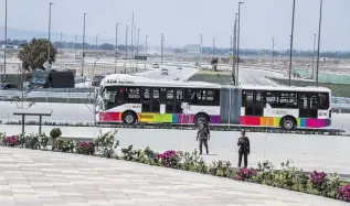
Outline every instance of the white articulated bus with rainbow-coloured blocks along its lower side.
<path id="1" fill-rule="evenodd" d="M 324 128 L 331 91 L 321 87 L 223 86 L 115 74 L 98 89 L 97 122 Z"/>

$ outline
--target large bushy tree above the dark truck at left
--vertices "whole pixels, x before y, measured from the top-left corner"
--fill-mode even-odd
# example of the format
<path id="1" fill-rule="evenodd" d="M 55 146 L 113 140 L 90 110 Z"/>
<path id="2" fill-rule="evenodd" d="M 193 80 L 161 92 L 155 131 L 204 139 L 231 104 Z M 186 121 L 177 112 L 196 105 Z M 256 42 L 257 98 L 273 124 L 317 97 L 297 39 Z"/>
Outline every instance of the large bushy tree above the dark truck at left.
<path id="1" fill-rule="evenodd" d="M 46 39 L 32 39 L 29 43 L 23 44 L 23 50 L 20 51 L 18 57 L 22 61 L 22 68 L 31 71 L 35 68 L 44 68 L 44 63 L 47 61 L 47 44 Z M 57 50 L 50 42 L 50 59 L 52 64 L 56 61 Z"/>

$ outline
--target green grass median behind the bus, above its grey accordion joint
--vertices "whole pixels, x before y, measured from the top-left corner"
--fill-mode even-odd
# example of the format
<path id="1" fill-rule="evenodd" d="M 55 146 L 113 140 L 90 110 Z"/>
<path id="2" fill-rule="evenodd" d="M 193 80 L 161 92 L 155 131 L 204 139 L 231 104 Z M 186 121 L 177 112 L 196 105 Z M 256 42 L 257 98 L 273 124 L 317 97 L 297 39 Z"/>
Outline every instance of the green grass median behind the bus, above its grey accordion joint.
<path id="1" fill-rule="evenodd" d="M 232 73 L 231 72 L 199 71 L 193 76 L 191 76 L 189 80 L 230 85 L 232 84 Z"/>

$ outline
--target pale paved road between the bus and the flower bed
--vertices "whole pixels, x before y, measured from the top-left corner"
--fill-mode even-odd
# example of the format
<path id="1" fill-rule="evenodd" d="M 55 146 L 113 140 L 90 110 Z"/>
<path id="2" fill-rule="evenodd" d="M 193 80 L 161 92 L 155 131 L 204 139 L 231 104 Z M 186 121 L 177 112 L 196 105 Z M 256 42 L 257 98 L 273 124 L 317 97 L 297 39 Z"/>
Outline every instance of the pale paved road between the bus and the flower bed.
<path id="1" fill-rule="evenodd" d="M 50 133 L 54 127 L 43 127 L 45 133 Z M 38 133 L 38 127 L 28 126 L 26 133 Z M 70 128 L 63 127 L 63 135 L 94 138 L 99 133 L 100 128 Z M 114 129 L 103 128 L 102 131 Z M 146 129 L 117 129 L 120 147 L 127 148 L 132 144 L 135 148 L 151 149 L 163 152 L 167 150 L 181 150 L 192 152 L 198 149 L 194 130 L 146 130 Z M 0 126 L 0 131 L 8 134 L 21 132 L 20 126 Z M 280 133 L 247 133 L 251 139 L 252 153 L 250 165 L 256 166 L 261 160 L 268 159 L 276 166 L 279 163 L 291 159 L 295 165 L 304 171 L 337 172 L 350 174 L 349 137 L 330 135 L 300 135 Z M 237 165 L 237 139 L 238 132 L 212 131 L 209 149 L 211 155 L 204 159 L 211 163 L 216 160 L 227 160 L 233 166 Z"/>

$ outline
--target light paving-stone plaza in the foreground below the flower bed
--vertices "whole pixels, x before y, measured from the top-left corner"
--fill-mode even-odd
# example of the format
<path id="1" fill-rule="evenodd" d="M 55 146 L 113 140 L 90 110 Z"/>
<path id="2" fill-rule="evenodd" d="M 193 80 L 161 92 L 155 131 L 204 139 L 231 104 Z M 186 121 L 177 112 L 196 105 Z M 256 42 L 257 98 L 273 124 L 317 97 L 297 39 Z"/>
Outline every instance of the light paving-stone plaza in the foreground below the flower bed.
<path id="1" fill-rule="evenodd" d="M 263 185 L 76 154 L 1 148 L 0 165 L 1 206 L 344 205 Z"/>

